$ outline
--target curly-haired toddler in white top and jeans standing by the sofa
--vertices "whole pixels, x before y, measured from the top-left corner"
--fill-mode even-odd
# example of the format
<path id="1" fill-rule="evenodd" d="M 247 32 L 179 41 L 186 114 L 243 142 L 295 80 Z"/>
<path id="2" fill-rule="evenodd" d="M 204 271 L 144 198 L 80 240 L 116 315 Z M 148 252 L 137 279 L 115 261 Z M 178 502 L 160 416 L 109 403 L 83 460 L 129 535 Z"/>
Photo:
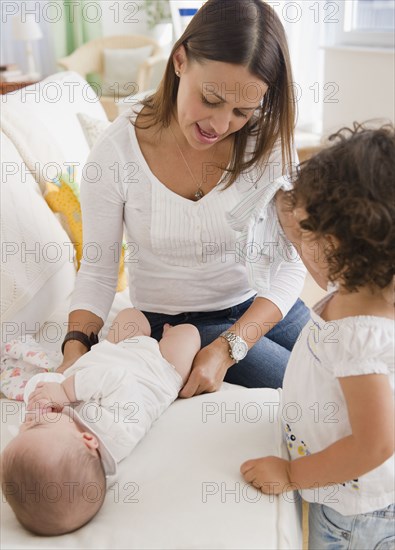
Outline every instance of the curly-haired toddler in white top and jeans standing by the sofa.
<path id="1" fill-rule="evenodd" d="M 347 135 L 348 134 L 348 135 Z M 300 489 L 309 548 L 394 548 L 395 134 L 339 132 L 301 165 L 280 218 L 318 283 L 284 378 L 290 461 L 249 460 L 265 493 Z"/>

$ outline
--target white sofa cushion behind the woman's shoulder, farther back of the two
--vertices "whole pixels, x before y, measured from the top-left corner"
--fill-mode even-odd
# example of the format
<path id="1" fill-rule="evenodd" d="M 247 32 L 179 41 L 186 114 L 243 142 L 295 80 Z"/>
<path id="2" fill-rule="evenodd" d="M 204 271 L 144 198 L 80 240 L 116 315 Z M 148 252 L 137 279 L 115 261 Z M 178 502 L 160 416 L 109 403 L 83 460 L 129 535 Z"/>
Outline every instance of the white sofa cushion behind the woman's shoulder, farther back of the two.
<path id="1" fill-rule="evenodd" d="M 82 171 L 89 145 L 77 113 L 107 120 L 89 84 L 77 73 L 61 72 L 1 96 L 2 130 L 44 191 L 45 181 L 67 166 Z"/>

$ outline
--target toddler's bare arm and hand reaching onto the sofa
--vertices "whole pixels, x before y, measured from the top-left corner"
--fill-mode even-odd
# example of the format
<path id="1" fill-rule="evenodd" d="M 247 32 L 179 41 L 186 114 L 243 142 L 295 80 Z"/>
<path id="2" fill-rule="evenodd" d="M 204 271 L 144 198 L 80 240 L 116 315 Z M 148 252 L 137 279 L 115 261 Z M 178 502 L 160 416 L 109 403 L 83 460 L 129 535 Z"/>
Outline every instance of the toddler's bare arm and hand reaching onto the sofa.
<path id="1" fill-rule="evenodd" d="M 293 461 L 277 457 L 242 464 L 246 481 L 266 493 L 284 485 L 300 489 L 343 483 L 377 468 L 394 452 L 394 399 L 385 374 L 339 378 L 350 419 L 351 435 L 323 451 Z M 318 426 L 317 426 L 318 429 Z"/>

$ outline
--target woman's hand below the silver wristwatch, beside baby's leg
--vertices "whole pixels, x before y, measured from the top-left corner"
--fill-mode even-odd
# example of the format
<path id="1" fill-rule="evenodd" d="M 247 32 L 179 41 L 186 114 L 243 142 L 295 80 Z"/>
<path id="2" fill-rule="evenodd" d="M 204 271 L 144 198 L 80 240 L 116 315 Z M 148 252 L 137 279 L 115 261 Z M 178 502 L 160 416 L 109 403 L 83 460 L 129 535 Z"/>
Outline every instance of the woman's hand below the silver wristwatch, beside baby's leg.
<path id="1" fill-rule="evenodd" d="M 223 338 L 217 338 L 196 355 L 191 374 L 179 396 L 192 397 L 217 391 L 225 378 L 226 371 L 232 365 L 228 342 Z"/>

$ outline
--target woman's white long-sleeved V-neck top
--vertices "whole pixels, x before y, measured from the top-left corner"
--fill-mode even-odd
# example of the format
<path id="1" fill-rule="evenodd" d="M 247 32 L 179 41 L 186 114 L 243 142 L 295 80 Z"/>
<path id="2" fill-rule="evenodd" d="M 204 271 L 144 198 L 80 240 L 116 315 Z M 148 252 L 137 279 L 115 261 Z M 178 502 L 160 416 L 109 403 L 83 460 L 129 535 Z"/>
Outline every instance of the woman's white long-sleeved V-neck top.
<path id="1" fill-rule="evenodd" d="M 195 202 L 151 172 L 131 123 L 135 117 L 132 110 L 118 117 L 84 167 L 84 254 L 70 311 L 107 318 L 125 229 L 134 307 L 166 314 L 213 311 L 257 293 L 285 316 L 301 292 L 305 269 L 280 229 L 273 202 L 280 187 L 289 187 L 280 148 L 228 189 L 222 191 L 219 182 Z"/>

